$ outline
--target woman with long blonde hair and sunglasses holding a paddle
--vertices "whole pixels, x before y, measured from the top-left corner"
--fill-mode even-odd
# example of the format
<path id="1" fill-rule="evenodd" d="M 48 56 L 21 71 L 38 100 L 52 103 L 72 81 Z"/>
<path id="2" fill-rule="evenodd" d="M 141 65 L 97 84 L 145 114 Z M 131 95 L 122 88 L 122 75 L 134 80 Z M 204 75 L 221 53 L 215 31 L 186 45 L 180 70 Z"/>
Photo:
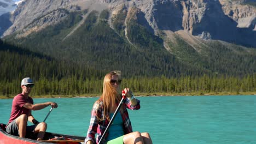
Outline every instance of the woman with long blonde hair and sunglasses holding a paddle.
<path id="1" fill-rule="evenodd" d="M 117 109 L 121 101 L 120 94 L 121 72 L 111 71 L 104 77 L 103 92 L 101 97 L 95 101 L 91 111 L 91 120 L 88 133 L 85 139 L 86 144 L 98 143 L 109 124 L 113 113 Z M 121 105 L 112 125 L 110 125 L 106 136 L 103 138 L 103 143 L 108 144 L 123 144 L 123 143 L 152 143 L 148 133 L 133 132 L 131 121 L 127 109 L 140 109 L 140 101 L 136 99 L 129 88 L 124 88 L 123 105 Z M 95 139 L 95 134 L 97 137 Z"/>

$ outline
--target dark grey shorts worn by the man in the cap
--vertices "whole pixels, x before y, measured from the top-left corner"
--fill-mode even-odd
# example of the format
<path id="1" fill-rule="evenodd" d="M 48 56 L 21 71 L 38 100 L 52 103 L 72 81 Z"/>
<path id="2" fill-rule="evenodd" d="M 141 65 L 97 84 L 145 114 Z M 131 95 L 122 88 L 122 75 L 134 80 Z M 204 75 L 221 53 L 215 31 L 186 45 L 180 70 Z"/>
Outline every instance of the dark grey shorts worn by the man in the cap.
<path id="1" fill-rule="evenodd" d="M 31 139 L 34 137 L 34 133 L 33 133 L 34 128 L 36 128 L 36 125 L 27 126 L 27 129 L 26 129 L 27 138 Z M 18 125 L 16 124 L 16 119 L 7 125 L 6 132 L 11 135 L 20 136 L 19 128 L 18 128 Z"/>

